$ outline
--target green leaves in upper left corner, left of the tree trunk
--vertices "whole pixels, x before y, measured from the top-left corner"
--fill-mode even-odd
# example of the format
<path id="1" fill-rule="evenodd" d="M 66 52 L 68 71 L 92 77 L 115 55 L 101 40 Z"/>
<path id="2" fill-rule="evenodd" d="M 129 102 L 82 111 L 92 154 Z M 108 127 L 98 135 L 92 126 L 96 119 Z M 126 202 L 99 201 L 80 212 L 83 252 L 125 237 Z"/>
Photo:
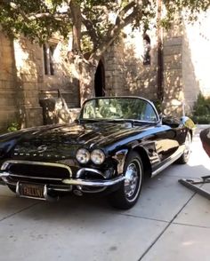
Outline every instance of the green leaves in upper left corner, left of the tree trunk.
<path id="1" fill-rule="evenodd" d="M 55 19 L 56 9 L 61 3 L 52 1 L 52 4 L 45 4 L 43 0 L 3 1 L 0 4 L 0 24 L 8 36 L 23 34 L 39 43 L 44 43 L 56 32 L 67 37 L 70 23 Z"/>

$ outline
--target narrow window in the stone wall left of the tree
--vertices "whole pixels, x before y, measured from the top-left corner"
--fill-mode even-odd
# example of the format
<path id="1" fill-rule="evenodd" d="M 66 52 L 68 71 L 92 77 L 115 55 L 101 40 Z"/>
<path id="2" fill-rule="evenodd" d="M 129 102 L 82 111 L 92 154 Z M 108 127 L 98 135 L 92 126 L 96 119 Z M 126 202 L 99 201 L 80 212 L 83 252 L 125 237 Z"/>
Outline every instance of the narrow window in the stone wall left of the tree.
<path id="1" fill-rule="evenodd" d="M 54 75 L 53 53 L 55 48 L 56 48 L 56 44 L 43 45 L 45 75 Z"/>

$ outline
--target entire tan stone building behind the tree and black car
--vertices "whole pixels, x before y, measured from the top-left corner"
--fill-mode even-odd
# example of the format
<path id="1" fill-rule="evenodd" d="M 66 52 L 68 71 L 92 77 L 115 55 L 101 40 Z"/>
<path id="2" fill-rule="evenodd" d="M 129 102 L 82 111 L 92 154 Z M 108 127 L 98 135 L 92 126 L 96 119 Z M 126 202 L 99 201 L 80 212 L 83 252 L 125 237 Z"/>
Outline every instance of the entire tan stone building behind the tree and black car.
<path id="1" fill-rule="evenodd" d="M 206 12 L 193 25 L 183 20 L 170 31 L 158 28 L 142 36 L 127 28 L 101 58 L 95 96 L 138 95 L 161 100 L 166 114 L 190 113 L 199 92 L 210 96 L 209 22 Z M 79 107 L 79 83 L 67 51 L 57 39 L 39 46 L 0 33 L 0 130 L 18 119 L 22 127 L 43 124 L 40 101 L 57 97 L 58 89 L 69 108 Z"/>

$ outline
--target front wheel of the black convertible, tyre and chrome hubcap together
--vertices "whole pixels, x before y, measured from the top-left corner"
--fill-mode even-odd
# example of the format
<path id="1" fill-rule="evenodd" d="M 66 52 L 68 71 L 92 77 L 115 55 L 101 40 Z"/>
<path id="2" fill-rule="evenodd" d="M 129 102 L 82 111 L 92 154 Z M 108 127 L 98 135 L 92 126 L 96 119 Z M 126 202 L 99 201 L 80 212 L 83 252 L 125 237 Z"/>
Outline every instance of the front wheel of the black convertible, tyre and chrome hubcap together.
<path id="1" fill-rule="evenodd" d="M 128 210 L 137 202 L 143 181 L 143 167 L 139 154 L 127 156 L 124 168 L 125 180 L 118 190 L 109 195 L 110 204 L 120 210 Z"/>

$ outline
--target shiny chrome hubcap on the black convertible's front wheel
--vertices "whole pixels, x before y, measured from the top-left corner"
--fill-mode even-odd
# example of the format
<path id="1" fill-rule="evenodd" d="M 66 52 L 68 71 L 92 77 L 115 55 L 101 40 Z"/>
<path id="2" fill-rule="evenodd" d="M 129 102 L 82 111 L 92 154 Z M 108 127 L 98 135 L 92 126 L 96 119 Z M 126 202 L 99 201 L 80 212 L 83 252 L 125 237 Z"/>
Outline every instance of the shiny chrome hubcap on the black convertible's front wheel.
<path id="1" fill-rule="evenodd" d="M 134 160 L 127 166 L 125 172 L 125 196 L 129 200 L 133 194 L 138 195 L 141 185 L 141 166 L 137 160 Z M 132 201 L 135 199 L 132 199 Z"/>

